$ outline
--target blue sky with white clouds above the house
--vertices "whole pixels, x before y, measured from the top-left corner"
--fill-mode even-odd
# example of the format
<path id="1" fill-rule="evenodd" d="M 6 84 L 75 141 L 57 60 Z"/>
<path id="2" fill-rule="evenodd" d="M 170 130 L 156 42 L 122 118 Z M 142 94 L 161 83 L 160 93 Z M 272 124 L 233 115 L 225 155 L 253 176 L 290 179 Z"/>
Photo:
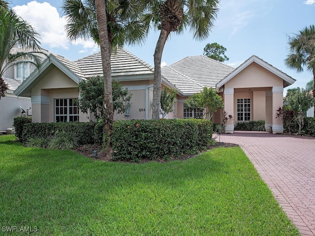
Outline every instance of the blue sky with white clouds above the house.
<path id="1" fill-rule="evenodd" d="M 99 49 L 92 41 L 69 42 L 60 6 L 62 0 L 11 0 L 11 6 L 41 35 L 41 44 L 52 52 L 76 60 Z M 224 63 L 237 67 L 252 55 L 267 61 L 297 81 L 289 88 L 304 87 L 312 79 L 309 71 L 287 68 L 287 35 L 315 24 L 315 0 L 221 0 L 217 20 L 208 39 L 196 41 L 189 29 L 173 33 L 166 42 L 162 61 L 174 63 L 188 56 L 202 55 L 207 43 L 224 46 L 229 58 Z M 125 46 L 135 56 L 153 65 L 159 31 L 151 30 L 141 46 Z M 286 89 L 285 89 L 286 91 Z"/>

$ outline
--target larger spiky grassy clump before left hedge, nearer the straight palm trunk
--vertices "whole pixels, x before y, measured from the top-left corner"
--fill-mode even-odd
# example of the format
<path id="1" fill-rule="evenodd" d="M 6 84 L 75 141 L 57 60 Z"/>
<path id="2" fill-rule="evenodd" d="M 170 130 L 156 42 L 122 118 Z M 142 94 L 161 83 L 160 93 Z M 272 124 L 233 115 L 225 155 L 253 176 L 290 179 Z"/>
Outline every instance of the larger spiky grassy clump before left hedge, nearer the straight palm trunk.
<path id="1" fill-rule="evenodd" d="M 79 139 L 69 132 L 56 132 L 49 141 L 48 148 L 56 150 L 70 150 L 79 146 Z"/>

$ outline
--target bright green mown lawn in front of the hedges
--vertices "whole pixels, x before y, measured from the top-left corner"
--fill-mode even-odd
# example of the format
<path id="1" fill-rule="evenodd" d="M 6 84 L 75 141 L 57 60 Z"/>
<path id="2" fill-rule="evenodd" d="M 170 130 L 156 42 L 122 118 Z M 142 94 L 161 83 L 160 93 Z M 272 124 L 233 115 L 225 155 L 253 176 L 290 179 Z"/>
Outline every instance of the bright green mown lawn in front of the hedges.
<path id="1" fill-rule="evenodd" d="M 299 235 L 241 148 L 127 164 L 14 139 L 0 136 L 0 235 Z"/>

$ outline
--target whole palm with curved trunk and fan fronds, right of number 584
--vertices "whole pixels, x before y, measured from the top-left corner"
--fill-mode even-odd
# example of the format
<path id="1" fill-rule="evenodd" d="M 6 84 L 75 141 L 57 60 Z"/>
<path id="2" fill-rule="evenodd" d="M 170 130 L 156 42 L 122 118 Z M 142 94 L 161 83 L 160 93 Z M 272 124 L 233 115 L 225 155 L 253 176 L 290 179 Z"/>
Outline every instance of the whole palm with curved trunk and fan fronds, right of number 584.
<path id="1" fill-rule="evenodd" d="M 154 53 L 154 87 L 152 118 L 158 119 L 161 95 L 161 59 L 170 32 L 190 27 L 195 39 L 208 37 L 217 17 L 219 0 L 147 0 L 148 14 L 144 21 L 160 29 Z"/>

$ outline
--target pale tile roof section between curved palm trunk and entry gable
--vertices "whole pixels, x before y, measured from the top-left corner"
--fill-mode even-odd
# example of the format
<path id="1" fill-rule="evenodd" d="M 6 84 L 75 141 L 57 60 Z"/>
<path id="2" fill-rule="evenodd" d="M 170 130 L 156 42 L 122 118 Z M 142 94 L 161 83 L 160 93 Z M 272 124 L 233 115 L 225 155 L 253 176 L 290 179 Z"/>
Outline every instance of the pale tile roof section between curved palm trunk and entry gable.
<path id="1" fill-rule="evenodd" d="M 162 76 L 183 93 L 196 93 L 203 87 L 215 89 L 233 70 L 233 67 L 205 56 L 186 57 L 161 68 Z"/>

